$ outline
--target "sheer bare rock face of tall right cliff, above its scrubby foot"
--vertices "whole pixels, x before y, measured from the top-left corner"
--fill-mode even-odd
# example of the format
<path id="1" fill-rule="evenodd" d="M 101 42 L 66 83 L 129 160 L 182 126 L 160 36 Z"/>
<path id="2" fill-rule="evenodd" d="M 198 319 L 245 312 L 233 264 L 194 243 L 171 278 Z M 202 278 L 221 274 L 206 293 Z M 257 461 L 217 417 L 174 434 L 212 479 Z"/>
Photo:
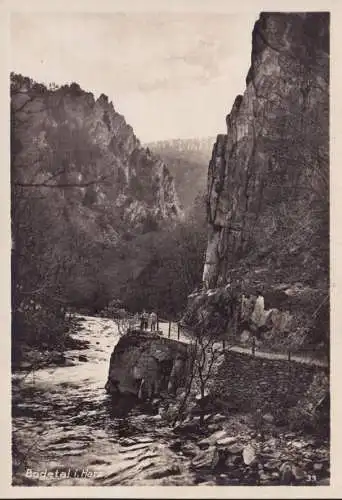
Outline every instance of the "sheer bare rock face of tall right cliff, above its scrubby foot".
<path id="1" fill-rule="evenodd" d="M 309 245 L 321 230 L 327 236 L 329 15 L 261 14 L 246 82 L 209 166 L 209 288 L 241 256 L 268 252 L 276 260 L 286 230 L 278 247 L 306 267 Z M 315 264 L 326 267 L 327 248 L 321 257 Z"/>

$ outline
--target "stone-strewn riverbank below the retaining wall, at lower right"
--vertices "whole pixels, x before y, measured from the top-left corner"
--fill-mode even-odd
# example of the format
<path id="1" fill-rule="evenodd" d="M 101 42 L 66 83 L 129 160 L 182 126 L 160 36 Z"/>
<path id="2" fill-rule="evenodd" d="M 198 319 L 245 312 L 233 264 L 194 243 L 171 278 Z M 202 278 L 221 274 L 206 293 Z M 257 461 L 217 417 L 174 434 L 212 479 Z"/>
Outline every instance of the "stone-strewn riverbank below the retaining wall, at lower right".
<path id="1" fill-rule="evenodd" d="M 264 419 L 268 429 L 261 432 L 251 415 L 207 415 L 201 429 L 198 419 L 188 420 L 174 429 L 172 448 L 191 457 L 196 484 L 329 484 L 328 441 L 276 428 L 267 422 L 270 415 Z"/>

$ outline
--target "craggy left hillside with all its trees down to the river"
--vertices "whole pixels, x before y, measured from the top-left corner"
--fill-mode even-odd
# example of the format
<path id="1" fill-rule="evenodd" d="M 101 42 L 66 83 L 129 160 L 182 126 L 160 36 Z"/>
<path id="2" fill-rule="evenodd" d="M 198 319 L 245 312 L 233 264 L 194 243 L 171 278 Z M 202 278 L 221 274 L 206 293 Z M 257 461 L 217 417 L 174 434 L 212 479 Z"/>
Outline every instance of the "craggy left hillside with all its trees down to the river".
<path id="1" fill-rule="evenodd" d="M 115 298 L 178 314 L 200 282 L 202 202 L 184 220 L 166 164 L 104 95 L 11 75 L 11 198 L 13 346 L 60 344 L 67 308 Z"/>

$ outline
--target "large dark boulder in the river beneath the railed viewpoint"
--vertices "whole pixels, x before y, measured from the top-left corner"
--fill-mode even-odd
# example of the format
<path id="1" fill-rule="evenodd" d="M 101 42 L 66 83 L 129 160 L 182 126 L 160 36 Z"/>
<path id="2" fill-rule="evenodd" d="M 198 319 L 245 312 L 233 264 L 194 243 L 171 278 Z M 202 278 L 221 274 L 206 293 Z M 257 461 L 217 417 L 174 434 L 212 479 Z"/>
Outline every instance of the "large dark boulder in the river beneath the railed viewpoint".
<path id="1" fill-rule="evenodd" d="M 161 391 L 175 393 L 186 383 L 188 346 L 153 334 L 132 332 L 120 338 L 110 359 L 107 392 L 141 399 Z"/>

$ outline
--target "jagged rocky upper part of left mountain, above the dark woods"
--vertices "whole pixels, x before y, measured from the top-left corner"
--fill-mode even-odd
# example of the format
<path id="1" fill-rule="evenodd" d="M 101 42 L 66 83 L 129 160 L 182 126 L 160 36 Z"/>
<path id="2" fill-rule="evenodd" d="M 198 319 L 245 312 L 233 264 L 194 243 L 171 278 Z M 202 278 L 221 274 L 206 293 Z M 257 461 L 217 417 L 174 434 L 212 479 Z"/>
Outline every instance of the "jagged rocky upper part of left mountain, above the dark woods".
<path id="1" fill-rule="evenodd" d="M 77 84 L 46 88 L 12 74 L 11 111 L 13 182 L 57 193 L 69 221 L 77 223 L 77 206 L 84 228 L 96 236 L 102 225 L 113 240 L 181 216 L 166 165 L 103 94 L 95 100 Z"/>

